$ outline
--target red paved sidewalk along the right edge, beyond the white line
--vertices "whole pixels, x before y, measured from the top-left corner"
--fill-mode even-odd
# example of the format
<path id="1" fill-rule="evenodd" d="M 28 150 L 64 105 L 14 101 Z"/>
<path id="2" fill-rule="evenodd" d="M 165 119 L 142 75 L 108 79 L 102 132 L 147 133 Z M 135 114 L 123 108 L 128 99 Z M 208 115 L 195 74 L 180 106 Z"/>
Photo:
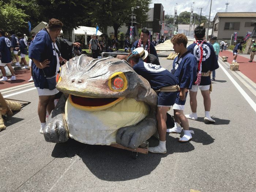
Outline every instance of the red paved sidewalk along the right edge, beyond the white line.
<path id="1" fill-rule="evenodd" d="M 229 64 L 233 61 L 233 53 L 229 50 L 223 50 L 223 52 L 219 52 L 219 57 L 227 56 L 229 57 L 227 59 L 227 62 Z M 256 61 L 253 61 L 252 63 L 249 63 L 248 61 L 250 59 L 243 57 L 242 55 L 238 54 L 237 56 L 237 62 L 239 63 L 239 71 L 242 72 L 245 76 L 247 76 L 249 79 L 251 79 L 253 82 L 256 83 Z"/>

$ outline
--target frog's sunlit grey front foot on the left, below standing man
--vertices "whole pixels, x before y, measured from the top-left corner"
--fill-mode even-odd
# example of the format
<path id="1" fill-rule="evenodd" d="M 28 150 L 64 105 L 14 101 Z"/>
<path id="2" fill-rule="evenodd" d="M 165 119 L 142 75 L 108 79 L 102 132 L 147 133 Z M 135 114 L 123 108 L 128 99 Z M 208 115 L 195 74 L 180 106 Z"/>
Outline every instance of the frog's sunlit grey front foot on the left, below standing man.
<path id="1" fill-rule="evenodd" d="M 64 114 L 57 114 L 47 121 L 44 128 L 44 137 L 47 142 L 62 143 L 68 140 L 68 129 L 65 125 Z"/>

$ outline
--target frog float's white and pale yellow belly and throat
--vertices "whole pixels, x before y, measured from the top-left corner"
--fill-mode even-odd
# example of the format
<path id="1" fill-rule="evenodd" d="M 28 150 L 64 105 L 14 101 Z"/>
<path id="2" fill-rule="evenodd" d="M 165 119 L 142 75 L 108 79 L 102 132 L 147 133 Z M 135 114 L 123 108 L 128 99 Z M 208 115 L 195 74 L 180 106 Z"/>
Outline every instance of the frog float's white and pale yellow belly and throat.
<path id="1" fill-rule="evenodd" d="M 69 137 L 81 143 L 110 145 L 116 143 L 116 133 L 121 127 L 135 125 L 149 113 L 144 102 L 127 98 L 99 111 L 86 111 L 65 105 L 65 116 Z"/>

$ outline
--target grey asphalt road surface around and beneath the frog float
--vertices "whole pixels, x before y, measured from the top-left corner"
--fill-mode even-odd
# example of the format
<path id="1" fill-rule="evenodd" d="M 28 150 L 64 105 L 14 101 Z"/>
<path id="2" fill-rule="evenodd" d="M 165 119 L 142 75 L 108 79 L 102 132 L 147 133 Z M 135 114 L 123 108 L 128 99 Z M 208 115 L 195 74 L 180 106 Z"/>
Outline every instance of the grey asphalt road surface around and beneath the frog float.
<path id="1" fill-rule="evenodd" d="M 162 57 L 160 63 L 170 69 L 172 60 Z M 251 103 L 256 102 L 236 72 L 221 65 Z M 193 139 L 180 143 L 180 134 L 169 134 L 167 154 L 139 154 L 136 160 L 129 151 L 108 146 L 75 140 L 47 143 L 39 134 L 37 91 L 9 97 L 31 103 L 8 118 L 6 130 L 0 132 L 0 191 L 255 191 L 256 112 L 221 68 L 216 76 L 211 93 L 211 116 L 216 123 L 204 124 L 203 99 L 198 93 L 199 118 L 189 120 Z M 188 101 L 189 96 L 186 114 L 191 112 Z M 149 142 L 158 144 L 154 138 Z"/>

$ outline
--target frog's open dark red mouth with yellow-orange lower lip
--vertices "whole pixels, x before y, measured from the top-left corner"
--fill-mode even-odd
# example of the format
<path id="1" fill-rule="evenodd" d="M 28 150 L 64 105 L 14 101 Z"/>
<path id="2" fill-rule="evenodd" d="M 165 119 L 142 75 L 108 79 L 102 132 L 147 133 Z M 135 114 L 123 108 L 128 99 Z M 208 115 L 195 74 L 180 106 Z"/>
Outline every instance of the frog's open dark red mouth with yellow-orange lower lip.
<path id="1" fill-rule="evenodd" d="M 82 110 L 102 110 L 109 108 L 124 98 L 89 98 L 69 94 L 69 101 L 75 107 Z"/>

